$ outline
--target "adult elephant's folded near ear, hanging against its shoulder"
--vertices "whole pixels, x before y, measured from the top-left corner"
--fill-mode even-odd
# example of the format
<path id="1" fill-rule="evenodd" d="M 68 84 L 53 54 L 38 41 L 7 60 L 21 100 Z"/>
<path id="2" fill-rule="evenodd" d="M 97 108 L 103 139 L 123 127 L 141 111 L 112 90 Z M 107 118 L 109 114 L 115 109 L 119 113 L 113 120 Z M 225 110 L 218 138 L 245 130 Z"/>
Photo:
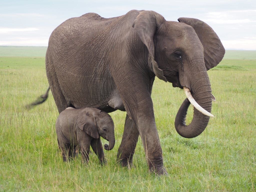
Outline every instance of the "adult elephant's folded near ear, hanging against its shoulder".
<path id="1" fill-rule="evenodd" d="M 154 35 L 161 21 L 164 17 L 154 11 L 142 11 L 134 20 L 132 27 L 136 30 L 141 41 L 146 45 L 148 52 L 152 59 L 152 65 L 155 75 L 167 82 L 164 77 L 163 70 L 159 69 L 155 61 L 155 45 Z"/>

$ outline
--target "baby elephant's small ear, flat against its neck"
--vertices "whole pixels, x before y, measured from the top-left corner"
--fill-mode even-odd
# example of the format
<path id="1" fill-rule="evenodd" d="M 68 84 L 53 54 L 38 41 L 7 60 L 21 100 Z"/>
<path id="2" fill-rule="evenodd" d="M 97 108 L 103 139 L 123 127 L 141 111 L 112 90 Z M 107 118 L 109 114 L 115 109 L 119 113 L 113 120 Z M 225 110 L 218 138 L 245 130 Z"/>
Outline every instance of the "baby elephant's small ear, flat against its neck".
<path id="1" fill-rule="evenodd" d="M 77 116 L 77 126 L 91 137 L 95 139 L 99 138 L 94 116 L 91 114 L 88 116 L 88 112 L 83 112 Z"/>

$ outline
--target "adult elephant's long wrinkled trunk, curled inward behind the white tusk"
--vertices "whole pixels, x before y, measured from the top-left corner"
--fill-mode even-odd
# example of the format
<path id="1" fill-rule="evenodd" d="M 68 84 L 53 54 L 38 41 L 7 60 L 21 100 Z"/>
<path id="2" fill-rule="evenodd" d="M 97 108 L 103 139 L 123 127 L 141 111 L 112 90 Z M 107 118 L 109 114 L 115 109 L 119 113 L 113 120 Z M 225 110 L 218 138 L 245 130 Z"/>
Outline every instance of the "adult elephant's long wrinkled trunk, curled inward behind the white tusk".
<path id="1" fill-rule="evenodd" d="M 186 120 L 187 110 L 191 101 L 190 100 L 191 98 L 187 96 L 188 98 L 183 101 L 175 118 L 176 131 L 181 136 L 186 138 L 193 138 L 200 135 L 205 130 L 209 122 L 209 116 L 213 116 L 210 114 L 211 101 L 212 101 L 210 81 L 209 81 L 207 72 L 204 71 L 202 73 L 203 74 L 201 75 L 203 75 L 204 78 L 191 81 L 191 82 L 195 82 L 194 84 L 191 84 L 191 90 L 193 90 L 191 97 L 192 99 L 193 98 L 195 99 L 196 101 L 195 103 L 196 104 L 198 103 L 199 107 L 201 106 L 203 110 L 199 109 L 198 106 L 193 104 L 194 105 L 193 120 L 189 125 L 186 125 L 185 120 Z M 193 102 L 191 101 L 191 103 Z"/>

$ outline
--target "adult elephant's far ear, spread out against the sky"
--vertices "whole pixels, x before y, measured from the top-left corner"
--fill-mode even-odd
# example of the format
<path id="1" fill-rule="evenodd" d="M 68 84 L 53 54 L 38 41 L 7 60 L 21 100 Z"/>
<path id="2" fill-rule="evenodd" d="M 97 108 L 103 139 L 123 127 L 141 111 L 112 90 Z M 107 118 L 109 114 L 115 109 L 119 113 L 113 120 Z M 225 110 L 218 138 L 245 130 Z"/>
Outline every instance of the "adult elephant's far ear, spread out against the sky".
<path id="1" fill-rule="evenodd" d="M 206 69 L 209 70 L 217 66 L 224 57 L 225 49 L 214 30 L 199 19 L 180 17 L 178 21 L 190 25 L 196 31 L 204 47 Z"/>

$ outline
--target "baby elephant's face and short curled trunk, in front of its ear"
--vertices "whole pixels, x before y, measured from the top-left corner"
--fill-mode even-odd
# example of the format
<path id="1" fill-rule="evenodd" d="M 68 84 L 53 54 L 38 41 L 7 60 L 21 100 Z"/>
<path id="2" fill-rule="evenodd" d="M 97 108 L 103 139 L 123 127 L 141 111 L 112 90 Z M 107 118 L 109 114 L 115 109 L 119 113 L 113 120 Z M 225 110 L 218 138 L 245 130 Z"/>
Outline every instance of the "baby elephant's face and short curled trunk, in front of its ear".
<path id="1" fill-rule="evenodd" d="M 101 111 L 98 115 L 94 115 L 96 127 L 98 129 L 99 135 L 105 140 L 109 141 L 109 145 L 105 144 L 105 150 L 112 150 L 115 146 L 115 134 L 114 134 L 114 122 L 111 116 Z"/>

